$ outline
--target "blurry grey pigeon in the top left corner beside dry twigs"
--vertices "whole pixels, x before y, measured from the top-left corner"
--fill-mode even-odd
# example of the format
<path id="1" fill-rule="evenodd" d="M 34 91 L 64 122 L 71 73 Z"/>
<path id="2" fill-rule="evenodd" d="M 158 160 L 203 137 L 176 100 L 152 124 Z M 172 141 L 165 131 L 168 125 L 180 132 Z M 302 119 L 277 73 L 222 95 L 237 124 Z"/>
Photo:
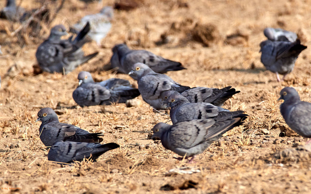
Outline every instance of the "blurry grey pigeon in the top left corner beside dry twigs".
<path id="1" fill-rule="evenodd" d="M 7 0 L 7 6 L 1 10 L 0 18 L 19 21 L 19 18 L 23 15 L 24 11 L 25 10 L 22 7 L 16 7 L 15 0 Z"/>

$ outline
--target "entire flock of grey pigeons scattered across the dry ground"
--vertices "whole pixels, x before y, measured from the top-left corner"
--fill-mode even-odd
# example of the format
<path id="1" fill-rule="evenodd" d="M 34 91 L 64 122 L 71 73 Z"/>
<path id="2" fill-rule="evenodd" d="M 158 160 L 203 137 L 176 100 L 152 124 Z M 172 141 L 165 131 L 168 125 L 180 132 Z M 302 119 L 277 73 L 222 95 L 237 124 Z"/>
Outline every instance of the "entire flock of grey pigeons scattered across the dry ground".
<path id="1" fill-rule="evenodd" d="M 8 6 L 12 2 L 15 5 L 15 1 L 8 0 Z M 81 47 L 90 39 L 100 44 L 111 27 L 109 20 L 112 16 L 111 7 L 85 16 L 72 29 L 77 33 L 75 38 L 61 39 L 67 35 L 66 28 L 54 26 L 48 39 L 37 49 L 40 68 L 50 73 L 67 74 L 95 57 L 98 52 L 84 56 Z M 290 73 L 298 55 L 307 47 L 301 45 L 292 32 L 267 28 L 264 34 L 268 40 L 260 43 L 261 61 L 268 70 L 276 73 L 280 81 L 278 74 Z M 162 145 L 179 154 L 180 159 L 191 157 L 188 161 L 191 163 L 195 155 L 204 152 L 228 130 L 240 126 L 248 116 L 241 110 L 221 108 L 226 100 L 240 92 L 231 86 L 222 89 L 183 86 L 163 74 L 186 69 L 179 62 L 149 51 L 131 50 L 125 44 L 114 46 L 112 51 L 111 67 L 137 80 L 138 89 L 128 80 L 118 78 L 94 82 L 91 73 L 82 71 L 78 75 L 79 86 L 72 94 L 74 101 L 84 107 L 125 103 L 142 95 L 142 99 L 155 110 L 170 108 L 173 125 L 156 124 L 151 139 L 160 139 Z M 300 101 L 297 91 L 291 87 L 284 88 L 280 94 L 280 99 L 284 99 L 281 114 L 286 123 L 300 135 L 311 137 L 311 104 Z M 104 152 L 119 147 L 116 143 L 100 144 L 103 141 L 101 133 L 89 133 L 77 126 L 60 123 L 52 108 L 42 108 L 36 121 L 42 122 L 39 137 L 45 146 L 50 147 L 50 161 L 70 163 L 89 157 L 95 161 Z"/>

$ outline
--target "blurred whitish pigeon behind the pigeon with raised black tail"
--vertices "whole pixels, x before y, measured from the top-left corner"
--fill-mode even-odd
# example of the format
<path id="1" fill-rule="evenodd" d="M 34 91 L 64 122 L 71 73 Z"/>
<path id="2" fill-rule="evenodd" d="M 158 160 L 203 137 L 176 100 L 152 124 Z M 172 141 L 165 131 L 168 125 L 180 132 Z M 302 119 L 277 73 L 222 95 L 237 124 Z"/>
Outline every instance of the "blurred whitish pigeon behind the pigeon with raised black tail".
<path id="1" fill-rule="evenodd" d="M 113 8 L 110 6 L 104 7 L 99 13 L 84 16 L 81 21 L 74 25 L 74 31 L 78 32 L 83 26 L 89 22 L 92 29 L 87 34 L 92 40 L 95 40 L 100 45 L 101 40 L 107 35 L 111 28 L 110 21 L 113 17 Z"/>

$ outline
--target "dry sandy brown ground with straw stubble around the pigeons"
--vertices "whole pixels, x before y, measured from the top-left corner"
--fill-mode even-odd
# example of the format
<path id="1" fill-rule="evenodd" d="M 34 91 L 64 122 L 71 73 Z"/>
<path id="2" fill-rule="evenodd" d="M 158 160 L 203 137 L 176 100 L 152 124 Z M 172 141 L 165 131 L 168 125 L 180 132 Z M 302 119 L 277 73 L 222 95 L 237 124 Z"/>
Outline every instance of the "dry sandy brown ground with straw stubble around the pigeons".
<path id="1" fill-rule="evenodd" d="M 283 87 L 293 86 L 310 102 L 310 49 L 299 55 L 294 71 L 281 83 L 264 69 L 258 52 L 266 27 L 297 32 L 311 46 L 311 1 L 131 2 L 138 2 L 135 9 L 115 10 L 101 47 L 95 42 L 83 47 L 86 54 L 99 54 L 67 76 L 33 75 L 37 47 L 54 25 L 69 28 L 114 1 L 66 0 L 51 25 L 37 37 L 24 36 L 24 43 L 11 35 L 18 23 L 0 20 L 0 193 L 311 193 L 307 139 L 288 128 L 277 101 Z M 4 5 L 2 0 L 0 7 Z M 30 10 L 40 4 L 23 0 L 21 6 Z M 72 92 L 82 70 L 90 71 L 95 81 L 118 77 L 135 84 L 109 69 L 111 48 L 123 42 L 180 61 L 187 69 L 167 74 L 182 85 L 240 90 L 224 108 L 244 110 L 248 119 L 188 164 L 176 160 L 160 141 L 148 139 L 152 127 L 169 117 L 154 113 L 141 96 L 141 103 L 131 108 L 77 106 Z M 120 148 L 94 163 L 61 166 L 48 161 L 39 139 L 41 123 L 35 123 L 44 107 L 55 109 L 61 122 L 104 133 L 104 142 Z"/>

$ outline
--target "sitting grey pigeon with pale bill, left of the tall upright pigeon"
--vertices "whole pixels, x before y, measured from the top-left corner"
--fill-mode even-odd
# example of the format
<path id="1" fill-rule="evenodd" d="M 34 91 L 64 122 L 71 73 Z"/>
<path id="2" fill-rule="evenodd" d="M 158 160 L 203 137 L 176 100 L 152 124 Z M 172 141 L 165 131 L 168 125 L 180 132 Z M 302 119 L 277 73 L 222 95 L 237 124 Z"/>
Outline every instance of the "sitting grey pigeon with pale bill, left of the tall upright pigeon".
<path id="1" fill-rule="evenodd" d="M 73 91 L 72 97 L 81 107 L 114 102 L 125 103 L 140 95 L 128 80 L 111 78 L 102 82 L 94 82 L 91 73 L 81 71 L 78 75 L 79 86 Z"/>

